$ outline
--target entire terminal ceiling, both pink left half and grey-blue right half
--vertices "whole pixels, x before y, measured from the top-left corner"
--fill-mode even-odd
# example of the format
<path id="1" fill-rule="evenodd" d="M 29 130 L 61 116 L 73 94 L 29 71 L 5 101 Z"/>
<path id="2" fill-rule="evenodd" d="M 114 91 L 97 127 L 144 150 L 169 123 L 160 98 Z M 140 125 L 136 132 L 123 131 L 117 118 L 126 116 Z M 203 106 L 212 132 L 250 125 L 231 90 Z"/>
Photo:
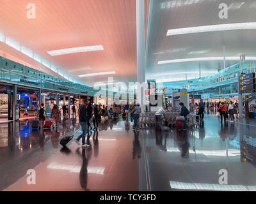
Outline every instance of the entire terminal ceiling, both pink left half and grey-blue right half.
<path id="1" fill-rule="evenodd" d="M 196 57 L 255 56 L 256 29 L 166 36 L 168 29 L 201 25 L 256 22 L 255 0 L 145 0 L 146 77 L 182 79 L 209 75 L 223 67 L 222 61 L 159 61 Z M 136 81 L 136 0 L 34 0 L 36 18 L 26 16 L 31 0 L 0 0 L 0 31 L 56 64 L 86 85 Z M 218 6 L 227 3 L 228 19 L 220 19 Z M 152 10 L 151 10 L 152 9 Z M 150 13 L 150 15 L 148 14 Z M 149 24 L 148 24 L 149 19 Z M 148 26 L 149 27 L 148 27 Z M 147 33 L 148 27 L 148 33 Z M 47 51 L 102 45 L 104 50 L 51 56 Z M 57 73 L 0 42 L 0 55 L 60 77 Z M 237 61 L 227 61 L 226 66 Z M 83 71 L 70 72 L 74 69 Z M 78 75 L 115 71 L 115 75 L 79 78 Z M 177 75 L 160 75 L 179 72 Z"/>

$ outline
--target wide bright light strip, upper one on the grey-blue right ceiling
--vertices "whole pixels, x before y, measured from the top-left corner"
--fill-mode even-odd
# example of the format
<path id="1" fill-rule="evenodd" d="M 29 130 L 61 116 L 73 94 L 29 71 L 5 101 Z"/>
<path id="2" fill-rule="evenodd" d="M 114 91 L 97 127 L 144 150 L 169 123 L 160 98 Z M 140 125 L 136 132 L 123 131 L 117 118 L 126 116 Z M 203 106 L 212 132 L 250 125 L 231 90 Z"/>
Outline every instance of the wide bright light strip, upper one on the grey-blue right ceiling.
<path id="1" fill-rule="evenodd" d="M 238 24 L 220 24 L 220 25 L 205 25 L 198 27 L 185 27 L 179 29 L 169 29 L 166 36 L 175 36 L 179 34 L 191 34 L 191 33 L 207 33 L 214 31 L 234 31 L 256 29 L 256 22 L 238 23 Z"/>

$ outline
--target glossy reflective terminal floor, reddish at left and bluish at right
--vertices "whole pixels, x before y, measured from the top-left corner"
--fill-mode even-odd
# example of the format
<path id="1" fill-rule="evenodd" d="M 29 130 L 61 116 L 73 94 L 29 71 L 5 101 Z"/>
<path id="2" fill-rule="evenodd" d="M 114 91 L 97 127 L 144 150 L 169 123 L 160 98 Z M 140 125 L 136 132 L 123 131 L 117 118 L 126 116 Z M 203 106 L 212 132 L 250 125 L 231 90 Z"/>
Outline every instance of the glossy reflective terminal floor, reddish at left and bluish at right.
<path id="1" fill-rule="evenodd" d="M 0 124 L 2 191 L 256 190 L 256 119 L 221 126 L 209 112 L 188 131 L 134 132 L 120 118 L 92 132 L 88 149 L 74 140 L 67 148 L 59 144 L 81 133 L 77 119 L 62 120 L 58 131 L 32 130 L 31 122 Z M 27 183 L 29 169 L 35 185 Z"/>

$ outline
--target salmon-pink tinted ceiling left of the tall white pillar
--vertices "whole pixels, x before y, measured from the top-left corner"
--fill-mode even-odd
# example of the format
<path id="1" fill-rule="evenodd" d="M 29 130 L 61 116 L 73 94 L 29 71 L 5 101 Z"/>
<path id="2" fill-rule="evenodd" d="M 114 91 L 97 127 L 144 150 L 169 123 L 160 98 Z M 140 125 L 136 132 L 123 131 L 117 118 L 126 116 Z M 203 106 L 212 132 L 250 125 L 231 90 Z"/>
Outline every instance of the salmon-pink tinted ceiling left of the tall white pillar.
<path id="1" fill-rule="evenodd" d="M 115 82 L 136 80 L 136 0 L 35 0 L 35 19 L 27 18 L 29 3 L 31 0 L 0 0 L 0 31 L 5 36 L 67 73 L 72 69 L 91 68 L 68 73 L 72 77 L 107 71 L 116 73 L 79 78 L 86 85 L 104 82 L 108 77 L 114 77 Z M 145 0 L 145 31 L 148 8 L 149 0 Z M 47 54 L 51 50 L 93 45 L 102 45 L 104 50 L 57 56 Z M 17 55 L 14 49 L 7 54 Z M 23 57 L 22 61 L 28 58 Z"/>

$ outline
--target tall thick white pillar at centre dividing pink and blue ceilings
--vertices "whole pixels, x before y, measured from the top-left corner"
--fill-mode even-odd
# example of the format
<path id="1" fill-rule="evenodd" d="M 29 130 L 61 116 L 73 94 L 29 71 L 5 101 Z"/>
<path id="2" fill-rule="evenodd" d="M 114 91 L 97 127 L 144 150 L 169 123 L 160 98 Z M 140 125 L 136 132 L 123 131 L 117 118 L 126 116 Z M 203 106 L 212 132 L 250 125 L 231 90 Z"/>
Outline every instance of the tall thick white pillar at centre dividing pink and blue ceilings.
<path id="1" fill-rule="evenodd" d="M 137 31 L 137 82 L 145 84 L 145 6 L 144 1 L 136 0 L 136 31 Z M 143 86 L 145 87 L 145 85 Z M 137 89 L 141 111 L 145 112 L 145 89 Z"/>

